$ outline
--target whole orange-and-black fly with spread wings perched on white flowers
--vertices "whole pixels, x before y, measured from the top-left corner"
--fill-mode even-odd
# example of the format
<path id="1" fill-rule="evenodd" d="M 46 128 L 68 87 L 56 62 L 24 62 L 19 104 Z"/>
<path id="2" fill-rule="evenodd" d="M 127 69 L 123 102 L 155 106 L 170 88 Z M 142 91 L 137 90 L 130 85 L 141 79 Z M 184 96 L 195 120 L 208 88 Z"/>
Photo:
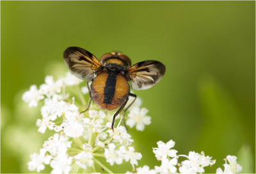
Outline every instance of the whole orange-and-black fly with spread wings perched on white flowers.
<path id="1" fill-rule="evenodd" d="M 108 110 L 120 107 L 113 116 L 112 129 L 115 117 L 124 109 L 129 96 L 134 97 L 134 100 L 124 109 L 124 116 L 136 100 L 136 95 L 130 93 L 128 82 L 131 82 L 134 90 L 146 90 L 154 86 L 165 73 L 163 63 L 154 60 L 141 61 L 131 67 L 131 60 L 120 52 L 104 54 L 99 61 L 82 48 L 68 47 L 63 58 L 76 77 L 86 80 L 91 100 L 99 107 Z M 92 81 L 90 88 L 88 81 Z"/>

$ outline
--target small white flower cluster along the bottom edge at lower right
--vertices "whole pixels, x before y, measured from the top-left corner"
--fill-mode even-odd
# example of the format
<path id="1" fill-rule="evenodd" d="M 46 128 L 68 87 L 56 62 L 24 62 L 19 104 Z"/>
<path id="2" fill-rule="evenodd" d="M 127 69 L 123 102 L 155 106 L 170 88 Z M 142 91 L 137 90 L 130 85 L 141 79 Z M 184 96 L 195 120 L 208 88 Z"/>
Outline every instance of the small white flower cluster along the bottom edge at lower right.
<path id="1" fill-rule="evenodd" d="M 172 149 L 175 145 L 175 142 L 172 139 L 167 143 L 158 141 L 157 145 L 157 148 L 153 148 L 153 152 L 156 155 L 156 159 L 161 161 L 161 165 L 154 166 L 154 169 L 151 170 L 149 166 L 143 166 L 142 168 L 137 168 L 136 173 L 204 173 L 204 168 L 206 166 L 212 166 L 216 162 L 216 160 L 212 160 L 212 157 L 209 157 L 208 155 L 205 156 L 204 152 L 198 154 L 191 151 L 188 155 L 177 155 L 178 151 Z M 186 159 L 179 162 L 179 159 L 182 157 L 185 157 Z M 228 155 L 227 159 L 225 159 L 225 170 L 222 171 L 221 168 L 218 168 L 216 173 L 240 172 L 242 167 L 237 164 L 236 159 L 236 156 Z M 227 160 L 229 164 L 227 164 Z M 132 172 L 127 171 L 126 173 L 131 174 Z"/>

